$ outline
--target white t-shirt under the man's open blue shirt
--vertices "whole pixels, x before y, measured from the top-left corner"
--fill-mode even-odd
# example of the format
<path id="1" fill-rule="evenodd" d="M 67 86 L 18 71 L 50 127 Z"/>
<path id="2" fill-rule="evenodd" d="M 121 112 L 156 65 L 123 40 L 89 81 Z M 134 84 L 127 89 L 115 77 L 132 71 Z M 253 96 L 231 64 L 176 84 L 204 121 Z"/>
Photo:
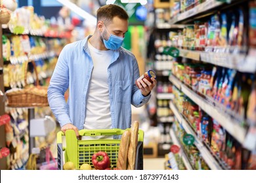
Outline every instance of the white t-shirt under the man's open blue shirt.
<path id="1" fill-rule="evenodd" d="M 84 128 L 111 129 L 108 66 L 114 55 L 114 50 L 97 50 L 89 41 L 88 46 L 91 52 L 91 58 L 93 59 L 93 73 L 89 84 Z M 110 139 L 112 137 L 98 136 L 93 139 L 105 138 Z"/>

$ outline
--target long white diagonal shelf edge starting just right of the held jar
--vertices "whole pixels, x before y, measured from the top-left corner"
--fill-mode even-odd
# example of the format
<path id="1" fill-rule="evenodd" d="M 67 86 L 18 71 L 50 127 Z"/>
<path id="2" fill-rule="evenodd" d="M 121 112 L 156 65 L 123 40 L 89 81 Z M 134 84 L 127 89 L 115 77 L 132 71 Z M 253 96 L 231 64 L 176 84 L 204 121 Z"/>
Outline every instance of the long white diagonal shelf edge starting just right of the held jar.
<path id="1" fill-rule="evenodd" d="M 185 95 L 192 99 L 194 103 L 202 108 L 202 110 L 209 114 L 209 116 L 217 120 L 217 122 L 219 122 L 219 124 L 222 125 L 224 129 L 226 129 L 226 131 L 230 133 L 230 135 L 238 140 L 238 142 L 244 144 L 247 130 L 245 129 L 245 127 L 242 127 L 240 124 L 238 124 L 238 122 L 234 122 L 234 118 L 232 118 L 230 114 L 223 112 L 221 108 L 217 108 L 212 103 L 207 102 L 205 99 L 203 99 L 203 97 L 182 84 L 182 82 L 178 80 L 175 76 L 169 76 L 169 80 Z"/>

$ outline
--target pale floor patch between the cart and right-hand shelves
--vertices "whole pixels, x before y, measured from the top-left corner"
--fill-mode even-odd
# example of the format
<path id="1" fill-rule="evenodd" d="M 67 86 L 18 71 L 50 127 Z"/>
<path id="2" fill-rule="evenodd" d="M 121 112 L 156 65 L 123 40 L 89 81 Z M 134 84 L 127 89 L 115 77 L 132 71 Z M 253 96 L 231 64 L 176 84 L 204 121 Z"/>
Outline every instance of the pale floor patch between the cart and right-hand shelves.
<path id="1" fill-rule="evenodd" d="M 164 158 L 144 158 L 143 169 L 144 170 L 164 170 Z"/>

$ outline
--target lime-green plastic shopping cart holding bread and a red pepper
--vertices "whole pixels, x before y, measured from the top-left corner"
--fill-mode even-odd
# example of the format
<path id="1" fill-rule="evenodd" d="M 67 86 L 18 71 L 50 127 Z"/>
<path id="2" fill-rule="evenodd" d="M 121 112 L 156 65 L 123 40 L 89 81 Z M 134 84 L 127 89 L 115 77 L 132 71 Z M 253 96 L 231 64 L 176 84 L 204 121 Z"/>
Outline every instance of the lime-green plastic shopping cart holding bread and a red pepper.
<path id="1" fill-rule="evenodd" d="M 100 136 L 100 135 L 122 135 L 123 129 L 82 129 L 79 131 L 81 136 Z M 66 147 L 62 144 L 62 136 L 65 136 Z M 121 136 L 119 136 L 121 137 Z M 143 138 L 144 131 L 139 129 L 137 154 L 135 169 L 143 169 Z M 93 139 L 93 140 L 77 140 L 74 130 L 67 130 L 66 135 L 62 131 L 57 133 L 58 146 L 58 169 L 62 170 L 64 161 L 72 161 L 75 169 L 80 169 L 83 163 L 88 163 L 94 169 L 91 157 L 99 151 L 104 151 L 110 158 L 110 165 L 116 167 L 119 151 L 119 139 Z M 64 151 L 64 153 L 63 153 Z"/>

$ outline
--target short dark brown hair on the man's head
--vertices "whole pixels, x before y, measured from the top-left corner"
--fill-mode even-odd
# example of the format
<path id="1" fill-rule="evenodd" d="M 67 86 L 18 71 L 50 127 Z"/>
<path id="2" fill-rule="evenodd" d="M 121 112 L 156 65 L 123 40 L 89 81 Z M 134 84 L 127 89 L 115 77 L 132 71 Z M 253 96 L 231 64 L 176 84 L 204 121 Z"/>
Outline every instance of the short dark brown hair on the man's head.
<path id="1" fill-rule="evenodd" d="M 113 18 L 116 16 L 123 20 L 128 20 L 129 18 L 127 12 L 117 5 L 104 5 L 103 7 L 98 8 L 96 16 L 97 22 L 101 20 L 104 24 L 112 22 Z"/>

